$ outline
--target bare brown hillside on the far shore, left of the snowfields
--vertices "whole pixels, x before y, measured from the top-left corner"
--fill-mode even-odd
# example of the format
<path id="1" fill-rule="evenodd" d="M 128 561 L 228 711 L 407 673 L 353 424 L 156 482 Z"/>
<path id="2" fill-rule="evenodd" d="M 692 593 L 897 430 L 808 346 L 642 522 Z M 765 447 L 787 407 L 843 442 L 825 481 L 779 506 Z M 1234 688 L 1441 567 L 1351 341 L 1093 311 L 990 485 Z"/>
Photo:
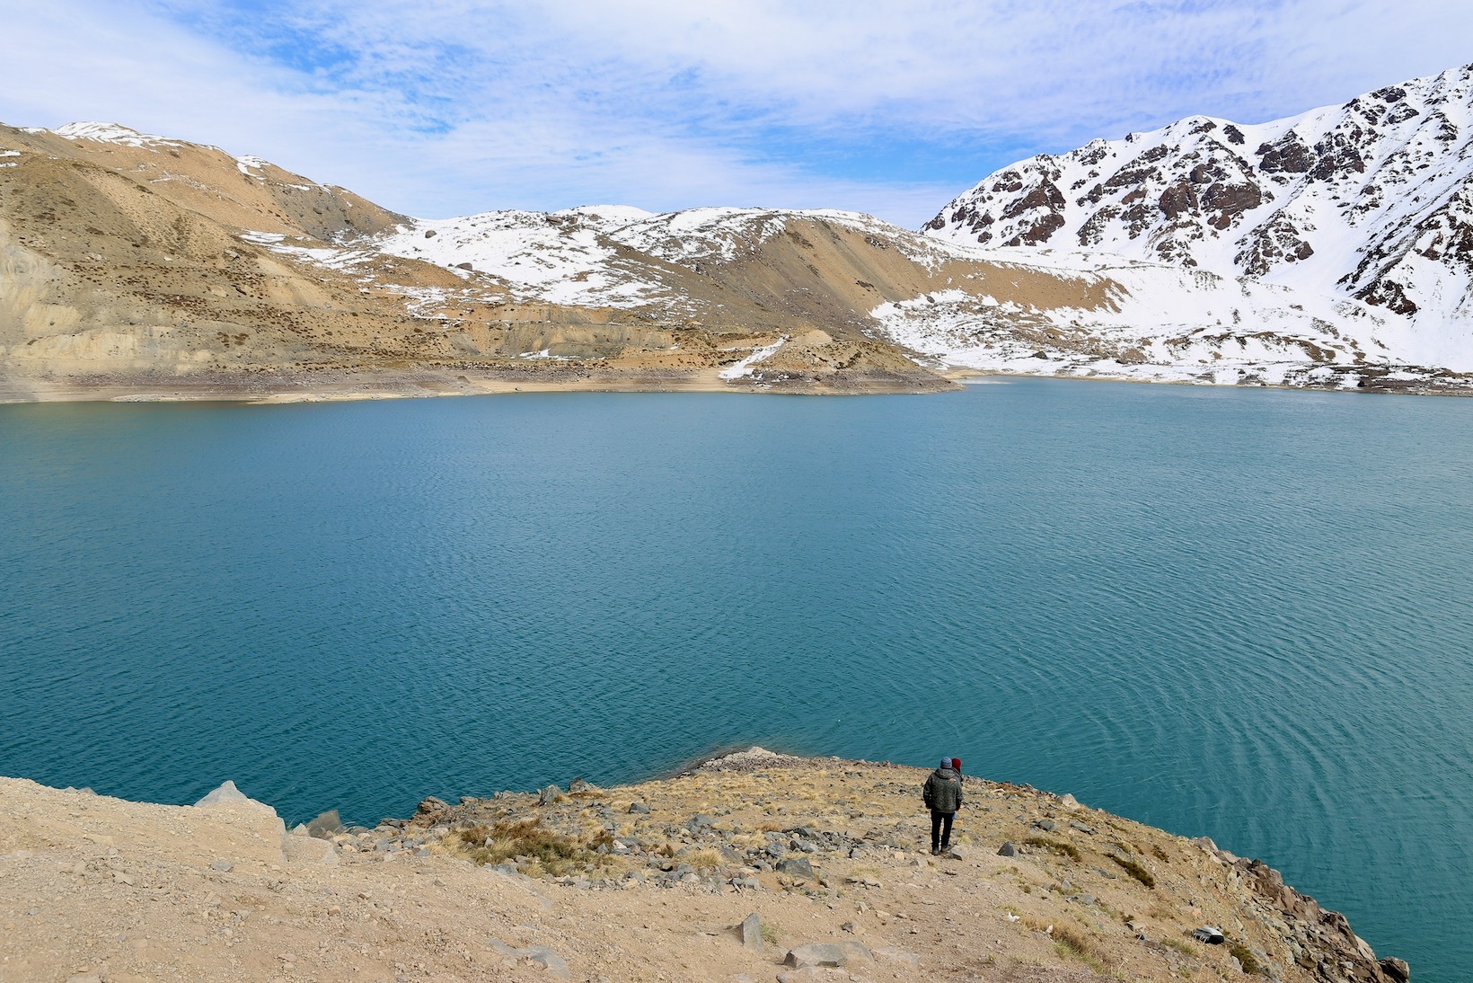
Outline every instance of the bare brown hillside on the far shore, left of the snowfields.
<path id="1" fill-rule="evenodd" d="M 619 246 L 683 302 L 529 301 L 485 271 L 377 252 L 407 220 L 343 189 L 122 140 L 0 128 L 0 399 L 950 385 L 868 336 L 792 249 L 713 276 Z M 763 377 L 719 376 L 784 335 Z"/>

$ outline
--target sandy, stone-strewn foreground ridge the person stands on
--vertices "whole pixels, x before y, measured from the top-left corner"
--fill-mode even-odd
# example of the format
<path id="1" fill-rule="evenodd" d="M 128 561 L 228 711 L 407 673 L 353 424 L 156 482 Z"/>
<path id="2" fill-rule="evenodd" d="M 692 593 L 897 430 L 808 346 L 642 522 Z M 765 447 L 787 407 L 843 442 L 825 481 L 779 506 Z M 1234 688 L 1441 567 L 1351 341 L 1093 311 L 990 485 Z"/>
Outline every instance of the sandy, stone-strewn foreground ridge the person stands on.
<path id="1" fill-rule="evenodd" d="M 1261 862 L 1071 796 L 968 778 L 932 858 L 925 775 L 751 749 L 293 831 L 230 783 L 0 778 L 0 980 L 1408 979 Z"/>

